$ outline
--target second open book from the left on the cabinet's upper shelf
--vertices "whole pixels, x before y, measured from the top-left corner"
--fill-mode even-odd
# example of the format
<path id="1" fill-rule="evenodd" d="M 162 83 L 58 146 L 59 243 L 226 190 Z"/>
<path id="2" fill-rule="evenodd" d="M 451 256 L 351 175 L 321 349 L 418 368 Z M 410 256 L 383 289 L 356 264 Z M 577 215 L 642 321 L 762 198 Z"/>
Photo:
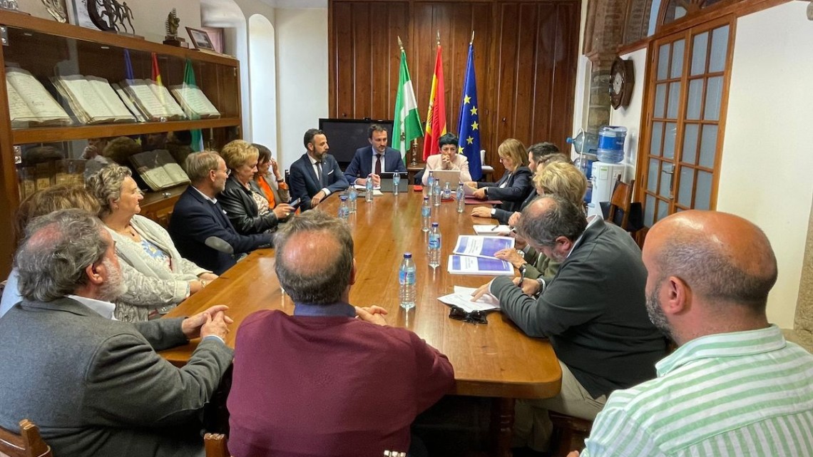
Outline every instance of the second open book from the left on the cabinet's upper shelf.
<path id="1" fill-rule="evenodd" d="M 50 80 L 83 124 L 136 121 L 133 113 L 104 78 L 69 75 L 53 76 Z"/>

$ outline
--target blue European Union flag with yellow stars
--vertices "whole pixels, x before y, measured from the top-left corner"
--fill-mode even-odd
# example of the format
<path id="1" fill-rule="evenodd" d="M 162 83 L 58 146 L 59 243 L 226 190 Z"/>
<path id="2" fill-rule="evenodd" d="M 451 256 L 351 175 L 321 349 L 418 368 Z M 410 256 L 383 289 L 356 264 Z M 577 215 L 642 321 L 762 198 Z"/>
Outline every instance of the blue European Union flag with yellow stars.
<path id="1" fill-rule="evenodd" d="M 473 35 L 472 35 L 473 36 Z M 458 133 L 460 142 L 458 153 L 466 155 L 468 171 L 472 180 L 479 181 L 483 176 L 483 164 L 480 163 L 480 115 L 477 110 L 477 84 L 474 79 L 474 42 L 468 45 L 468 63 L 466 64 L 466 81 L 463 82 L 463 99 L 460 102 Z"/>

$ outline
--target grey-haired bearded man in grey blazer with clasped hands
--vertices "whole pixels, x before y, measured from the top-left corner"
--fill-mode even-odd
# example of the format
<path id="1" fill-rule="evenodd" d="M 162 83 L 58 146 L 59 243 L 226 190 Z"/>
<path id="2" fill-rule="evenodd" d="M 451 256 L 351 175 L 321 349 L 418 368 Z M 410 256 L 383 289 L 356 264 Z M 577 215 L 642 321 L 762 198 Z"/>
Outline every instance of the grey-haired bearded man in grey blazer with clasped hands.
<path id="1" fill-rule="evenodd" d="M 225 306 L 111 320 L 124 293 L 115 242 L 81 210 L 28 224 L 15 268 L 24 300 L 0 319 L 0 426 L 32 420 L 62 457 L 203 455 L 200 410 L 233 359 Z M 197 337 L 184 368 L 155 352 Z"/>

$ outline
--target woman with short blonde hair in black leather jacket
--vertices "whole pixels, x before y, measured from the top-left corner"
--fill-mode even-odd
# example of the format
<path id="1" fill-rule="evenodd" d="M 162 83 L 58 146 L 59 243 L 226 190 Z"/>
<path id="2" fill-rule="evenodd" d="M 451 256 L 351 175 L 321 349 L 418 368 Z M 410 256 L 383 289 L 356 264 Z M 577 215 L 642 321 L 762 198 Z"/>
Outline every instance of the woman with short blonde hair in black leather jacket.
<path id="1" fill-rule="evenodd" d="M 277 224 L 293 214 L 294 209 L 288 203 L 271 207 L 254 181 L 259 159 L 256 147 L 248 141 L 234 140 L 223 146 L 220 156 L 230 174 L 217 201 L 238 233 L 251 235 L 275 230 Z"/>

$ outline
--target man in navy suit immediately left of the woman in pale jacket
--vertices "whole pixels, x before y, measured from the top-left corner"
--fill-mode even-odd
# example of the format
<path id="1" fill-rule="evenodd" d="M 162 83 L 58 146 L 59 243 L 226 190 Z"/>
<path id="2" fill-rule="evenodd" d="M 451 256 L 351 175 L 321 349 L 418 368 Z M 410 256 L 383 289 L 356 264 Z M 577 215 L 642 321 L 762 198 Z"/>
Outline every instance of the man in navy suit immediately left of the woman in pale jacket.
<path id="1" fill-rule="evenodd" d="M 378 124 L 372 124 L 367 130 L 370 146 L 356 150 L 353 161 L 347 166 L 345 176 L 350 184 L 366 185 L 367 176 L 372 174 L 372 184 L 381 184 L 381 172 L 406 173 L 401 153 L 387 147 L 387 131 Z"/>

